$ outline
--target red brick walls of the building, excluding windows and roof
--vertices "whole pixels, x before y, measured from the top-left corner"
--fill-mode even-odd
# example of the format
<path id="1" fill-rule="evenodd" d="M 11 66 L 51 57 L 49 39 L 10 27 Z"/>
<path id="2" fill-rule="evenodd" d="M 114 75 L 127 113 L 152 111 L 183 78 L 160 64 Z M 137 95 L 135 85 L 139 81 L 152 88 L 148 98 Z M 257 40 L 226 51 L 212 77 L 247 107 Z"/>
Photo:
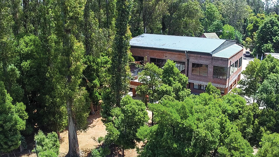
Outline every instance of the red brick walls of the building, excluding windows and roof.
<path id="1" fill-rule="evenodd" d="M 150 58 L 160 58 L 160 59 L 166 59 L 166 60 L 170 59 L 170 60 L 185 62 L 185 74 L 187 74 L 187 56 L 185 53 L 149 50 L 149 49 L 138 49 L 138 48 L 131 48 L 130 50 L 134 56 L 143 56 L 143 57 L 146 56 L 147 62 L 150 62 Z M 213 78 L 213 66 L 229 67 L 230 61 L 231 61 L 231 63 L 234 63 L 236 60 L 238 60 L 242 56 L 243 56 L 243 50 L 239 51 L 231 58 L 219 58 L 219 57 L 212 57 L 212 56 L 188 54 L 188 57 L 189 57 L 188 78 L 189 78 L 189 80 L 212 82 L 215 84 L 228 86 L 228 83 L 229 82 L 232 83 L 232 80 L 240 79 L 240 75 L 239 75 L 239 78 L 237 78 L 237 77 L 238 77 L 238 74 L 242 70 L 242 66 L 239 69 L 237 69 L 237 71 L 234 74 L 232 74 L 230 76 L 230 79 Z M 192 63 L 208 65 L 208 76 L 192 75 Z M 204 90 L 194 89 L 193 83 L 190 84 L 190 89 L 194 93 L 204 92 Z M 227 93 L 227 89 L 225 90 L 225 94 L 226 93 Z"/>

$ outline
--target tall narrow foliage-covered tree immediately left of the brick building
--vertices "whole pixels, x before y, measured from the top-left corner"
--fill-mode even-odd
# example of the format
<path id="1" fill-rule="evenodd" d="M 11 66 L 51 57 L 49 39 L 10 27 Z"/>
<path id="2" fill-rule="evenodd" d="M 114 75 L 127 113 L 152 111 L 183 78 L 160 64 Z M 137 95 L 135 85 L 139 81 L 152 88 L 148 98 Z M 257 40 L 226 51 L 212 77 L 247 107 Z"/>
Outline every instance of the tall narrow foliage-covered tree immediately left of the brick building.
<path id="1" fill-rule="evenodd" d="M 128 92 L 128 76 L 130 75 L 128 62 L 131 56 L 129 42 L 132 38 L 128 22 L 130 20 L 133 3 L 131 0 L 117 0 L 116 7 L 116 34 L 113 43 L 112 65 L 110 69 L 112 74 L 112 91 L 110 101 L 112 101 L 112 104 L 116 104 L 116 106 L 119 106 L 121 97 L 123 97 L 124 94 Z M 110 105 L 109 102 L 107 104 Z"/>

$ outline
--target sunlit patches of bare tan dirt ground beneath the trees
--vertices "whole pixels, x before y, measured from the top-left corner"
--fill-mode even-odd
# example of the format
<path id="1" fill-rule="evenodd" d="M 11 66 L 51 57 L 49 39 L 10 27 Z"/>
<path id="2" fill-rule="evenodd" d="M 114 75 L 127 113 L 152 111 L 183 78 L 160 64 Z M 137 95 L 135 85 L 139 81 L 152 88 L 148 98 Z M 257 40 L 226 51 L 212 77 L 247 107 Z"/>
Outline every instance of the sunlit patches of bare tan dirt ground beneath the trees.
<path id="1" fill-rule="evenodd" d="M 149 125 L 151 125 L 151 112 L 147 111 L 150 117 Z M 78 131 L 78 144 L 79 148 L 84 157 L 90 157 L 91 149 L 96 148 L 98 143 L 98 138 L 101 136 L 105 136 L 107 131 L 105 131 L 105 125 L 101 121 L 102 117 L 100 112 L 97 111 L 95 115 L 90 115 L 87 119 L 89 126 L 86 132 Z M 60 157 L 64 157 L 69 149 L 69 141 L 68 141 L 68 130 L 65 129 L 62 133 L 60 133 L 62 140 L 60 141 Z M 10 157 L 36 157 L 36 154 L 32 152 L 34 148 L 34 135 L 29 135 L 26 137 L 26 142 L 28 143 L 27 149 L 23 152 L 19 152 L 19 150 L 15 150 L 15 155 L 13 153 L 10 154 Z M 142 146 L 142 142 L 138 143 L 138 146 Z M 110 156 L 121 156 L 122 151 L 118 148 L 112 150 L 113 154 Z M 136 149 L 128 149 L 124 151 L 125 157 L 136 157 L 137 152 Z M 1 154 L 0 154 L 1 155 Z M 5 155 L 2 155 L 6 157 Z"/>

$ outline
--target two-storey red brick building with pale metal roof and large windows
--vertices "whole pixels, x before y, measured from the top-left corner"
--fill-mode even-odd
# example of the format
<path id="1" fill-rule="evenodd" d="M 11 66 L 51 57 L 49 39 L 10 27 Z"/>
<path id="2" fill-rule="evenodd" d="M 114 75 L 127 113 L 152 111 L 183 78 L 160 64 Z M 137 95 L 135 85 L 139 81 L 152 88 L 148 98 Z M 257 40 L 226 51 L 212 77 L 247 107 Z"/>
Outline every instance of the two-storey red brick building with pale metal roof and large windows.
<path id="1" fill-rule="evenodd" d="M 168 59 L 189 78 L 188 88 L 192 93 L 205 92 L 208 82 L 227 94 L 236 87 L 242 69 L 243 46 L 236 41 L 173 35 L 142 34 L 130 40 L 130 51 L 136 61 L 146 57 L 163 67 Z M 133 69 L 134 79 L 130 88 L 140 83 Z M 134 93 L 135 94 L 135 93 Z"/>

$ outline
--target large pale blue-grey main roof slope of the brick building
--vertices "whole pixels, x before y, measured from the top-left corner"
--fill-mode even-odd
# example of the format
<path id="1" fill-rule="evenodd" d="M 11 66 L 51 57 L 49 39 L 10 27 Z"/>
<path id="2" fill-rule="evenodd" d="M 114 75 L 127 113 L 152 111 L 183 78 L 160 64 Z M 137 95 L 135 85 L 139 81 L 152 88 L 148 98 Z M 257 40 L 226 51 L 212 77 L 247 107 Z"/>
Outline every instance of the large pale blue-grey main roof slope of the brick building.
<path id="1" fill-rule="evenodd" d="M 224 39 L 142 34 L 132 38 L 130 40 L 130 45 L 137 47 L 211 53 L 224 42 L 226 42 Z"/>

